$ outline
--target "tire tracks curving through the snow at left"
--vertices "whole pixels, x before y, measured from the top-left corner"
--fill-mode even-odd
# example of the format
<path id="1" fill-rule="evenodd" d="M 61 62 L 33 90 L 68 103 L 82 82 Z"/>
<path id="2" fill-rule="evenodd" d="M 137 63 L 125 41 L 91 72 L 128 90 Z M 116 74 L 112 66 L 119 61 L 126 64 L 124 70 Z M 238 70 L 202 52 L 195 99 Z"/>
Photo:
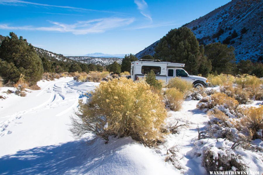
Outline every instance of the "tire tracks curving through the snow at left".
<path id="1" fill-rule="evenodd" d="M 18 125 L 21 123 L 15 123 L 16 120 L 23 118 L 25 114 L 39 112 L 45 109 L 53 109 L 56 107 L 67 106 L 72 103 L 67 109 L 59 112 L 55 116 L 62 116 L 72 109 L 78 106 L 79 96 L 87 91 L 94 91 L 96 83 L 89 82 L 87 83 L 76 82 L 72 79 L 59 79 L 56 82 L 52 82 L 44 89 L 42 89 L 32 101 L 41 98 L 41 95 L 50 93 L 49 99 L 41 103 L 36 107 L 32 107 L 27 110 L 15 112 L 14 114 L 3 116 L 1 118 L 8 118 L 6 121 L 0 122 L 0 137 L 11 134 L 12 131 L 8 130 L 10 125 Z M 83 85 L 86 84 L 86 85 Z"/>

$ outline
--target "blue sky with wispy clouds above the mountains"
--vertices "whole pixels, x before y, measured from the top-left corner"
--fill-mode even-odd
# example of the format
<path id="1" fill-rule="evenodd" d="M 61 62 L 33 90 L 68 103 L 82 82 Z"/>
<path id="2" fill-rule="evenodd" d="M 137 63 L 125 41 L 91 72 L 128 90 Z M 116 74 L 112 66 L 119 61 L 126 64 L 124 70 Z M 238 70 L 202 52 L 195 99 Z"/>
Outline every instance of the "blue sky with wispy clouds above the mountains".
<path id="1" fill-rule="evenodd" d="M 0 34 L 71 56 L 136 54 L 230 0 L 0 0 Z"/>

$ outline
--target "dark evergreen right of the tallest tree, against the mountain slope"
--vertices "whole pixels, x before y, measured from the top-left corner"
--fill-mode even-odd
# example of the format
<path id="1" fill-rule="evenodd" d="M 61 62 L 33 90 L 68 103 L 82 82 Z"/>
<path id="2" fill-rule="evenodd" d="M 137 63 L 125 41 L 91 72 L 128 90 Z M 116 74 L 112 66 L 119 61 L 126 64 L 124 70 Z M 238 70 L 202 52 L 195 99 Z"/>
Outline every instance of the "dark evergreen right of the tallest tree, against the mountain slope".
<path id="1" fill-rule="evenodd" d="M 234 47 L 227 47 L 226 44 L 211 43 L 205 46 L 205 55 L 212 63 L 212 71 L 218 74 L 233 73 L 236 66 Z"/>

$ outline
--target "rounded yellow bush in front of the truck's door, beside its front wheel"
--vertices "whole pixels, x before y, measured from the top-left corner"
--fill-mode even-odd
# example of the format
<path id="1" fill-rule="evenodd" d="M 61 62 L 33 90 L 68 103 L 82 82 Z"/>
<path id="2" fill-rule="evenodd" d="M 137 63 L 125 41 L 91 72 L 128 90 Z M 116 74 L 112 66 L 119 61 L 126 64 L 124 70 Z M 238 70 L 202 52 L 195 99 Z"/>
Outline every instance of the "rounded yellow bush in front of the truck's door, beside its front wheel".
<path id="1" fill-rule="evenodd" d="M 193 84 L 184 79 L 174 77 L 169 80 L 167 87 L 179 89 L 182 93 L 186 94 L 191 91 L 191 89 L 193 88 Z"/>

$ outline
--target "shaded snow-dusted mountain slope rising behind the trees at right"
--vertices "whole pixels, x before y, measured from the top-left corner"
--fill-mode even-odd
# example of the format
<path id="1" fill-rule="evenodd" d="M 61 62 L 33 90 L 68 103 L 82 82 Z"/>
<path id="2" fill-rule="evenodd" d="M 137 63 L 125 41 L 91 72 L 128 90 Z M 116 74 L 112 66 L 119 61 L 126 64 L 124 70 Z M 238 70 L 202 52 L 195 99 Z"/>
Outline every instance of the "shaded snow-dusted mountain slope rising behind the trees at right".
<path id="1" fill-rule="evenodd" d="M 232 0 L 183 26 L 193 31 L 200 44 L 233 46 L 238 61 L 262 59 L 262 5 L 261 0 Z M 153 49 L 149 46 L 135 56 L 154 55 Z"/>

